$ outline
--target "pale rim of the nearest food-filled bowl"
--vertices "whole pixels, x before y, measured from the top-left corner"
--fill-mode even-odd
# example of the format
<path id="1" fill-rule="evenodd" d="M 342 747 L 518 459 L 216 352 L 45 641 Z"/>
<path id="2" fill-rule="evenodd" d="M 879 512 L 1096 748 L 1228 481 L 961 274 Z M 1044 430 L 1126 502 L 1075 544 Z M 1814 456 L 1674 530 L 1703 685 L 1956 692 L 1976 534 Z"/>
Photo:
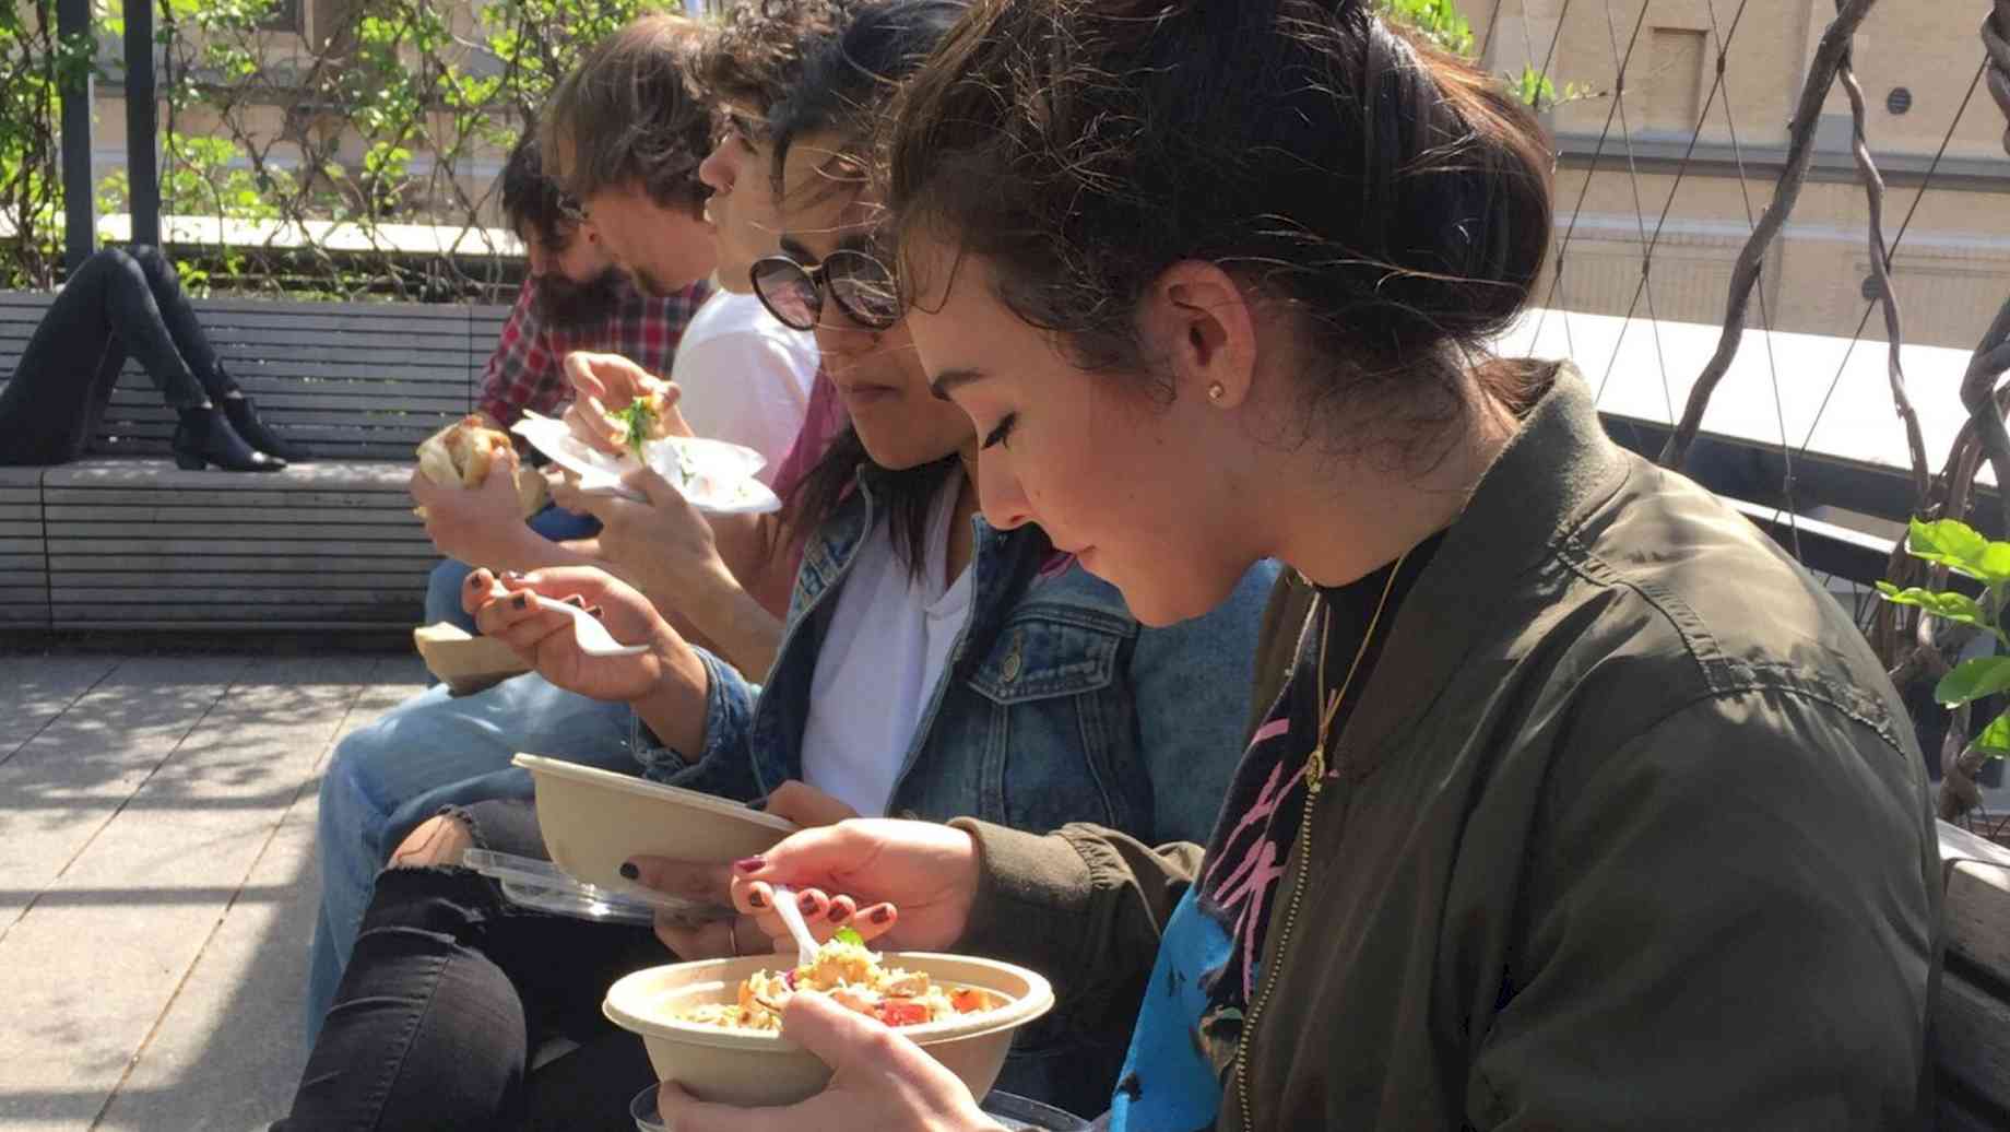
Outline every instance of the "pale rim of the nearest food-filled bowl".
<path id="1" fill-rule="evenodd" d="M 987 969 L 991 969 L 991 971 L 995 971 L 999 975 L 1009 975 L 1013 979 L 1021 979 L 1027 985 L 1027 991 L 1023 995 L 1013 997 L 1005 1005 L 999 1005 L 999 1007 L 993 1007 L 993 1009 L 987 1009 L 987 1011 L 979 1011 L 975 1017 L 973 1015 L 959 1015 L 959 1017 L 947 1017 L 943 1021 L 923 1021 L 919 1025 L 896 1025 L 896 1027 L 892 1027 L 894 1033 L 900 1033 L 902 1037 L 909 1037 L 917 1046 L 929 1046 L 929 1044 L 935 1044 L 935 1042 L 953 1042 L 953 1040 L 963 1040 L 963 1037 L 981 1037 L 985 1033 L 997 1033 L 999 1029 L 1017 1029 L 1017 1027 L 1021 1027 L 1021 1025 L 1025 1025 L 1025 1023 L 1029 1023 L 1029 1021 L 1033 1021 L 1033 1019 L 1037 1019 L 1041 1015 L 1045 1015 L 1049 1009 L 1053 1009 L 1053 983 L 1049 983 L 1047 977 L 1041 975 L 1039 971 L 1029 971 L 1029 969 L 1019 967 L 1015 963 L 1005 963 L 1003 959 L 985 959 L 981 955 L 955 955 L 955 953 L 949 953 L 949 951 L 880 951 L 878 955 L 886 963 L 900 963 L 900 961 L 904 961 L 904 963 L 927 963 L 927 961 L 933 961 L 933 959 L 949 959 L 949 961 L 955 961 L 955 963 L 975 963 L 977 967 L 987 967 Z M 754 1054 L 800 1052 L 802 1046 L 798 1046 L 798 1044 L 782 1037 L 776 1031 L 768 1031 L 768 1029 L 724 1029 L 724 1027 L 710 1025 L 710 1023 L 703 1023 L 703 1021 L 641 1017 L 641 1015 L 625 1009 L 617 1001 L 617 995 L 623 989 L 633 991 L 635 983 L 647 981 L 651 977 L 661 977 L 663 971 L 689 969 L 689 967 L 722 967 L 724 969 L 724 967 L 746 963 L 750 959 L 754 959 L 754 961 L 770 961 L 770 963 L 776 961 L 776 959 L 780 959 L 780 961 L 786 963 L 788 955 L 784 955 L 784 953 L 776 953 L 772 957 L 770 955 L 728 955 L 728 957 L 718 957 L 718 959 L 691 959 L 691 961 L 685 961 L 685 963 L 659 963 L 655 967 L 643 967 L 641 971 L 633 971 L 629 975 L 623 975 L 623 977 L 615 979 L 615 983 L 611 987 L 607 987 L 607 997 L 601 999 L 601 1013 L 607 1017 L 607 1021 L 613 1021 L 621 1029 L 627 1029 L 627 1031 L 643 1035 L 643 1037 L 665 1037 L 665 1040 L 671 1040 L 671 1042 L 689 1042 L 689 1044 L 695 1044 L 695 1046 L 712 1046 L 712 1048 L 718 1048 L 718 1050 L 746 1050 L 746 1052 L 754 1052 Z M 752 969 L 760 971 L 762 967 L 752 967 Z M 712 979 L 712 983 L 728 983 L 728 979 Z M 708 985 L 708 983 L 706 981 L 695 981 L 695 983 L 687 983 L 687 985 L 699 985 L 701 987 L 701 985 Z M 991 991 L 991 993 L 997 993 L 997 995 L 1005 993 L 1003 989 L 993 987 L 993 985 L 983 985 L 983 983 L 967 983 L 967 985 L 975 985 L 975 987 L 979 987 L 983 991 Z"/>

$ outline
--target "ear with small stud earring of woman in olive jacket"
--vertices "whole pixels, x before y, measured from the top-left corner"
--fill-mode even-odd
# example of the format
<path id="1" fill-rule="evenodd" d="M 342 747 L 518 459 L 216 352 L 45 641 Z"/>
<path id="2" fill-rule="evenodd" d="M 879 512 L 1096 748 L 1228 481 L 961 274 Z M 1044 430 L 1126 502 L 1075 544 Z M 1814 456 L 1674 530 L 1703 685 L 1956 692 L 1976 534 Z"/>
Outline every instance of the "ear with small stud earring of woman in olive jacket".
<path id="1" fill-rule="evenodd" d="M 1256 320 L 1242 288 L 1214 263 L 1182 259 L 1152 284 L 1140 324 L 1164 358 L 1178 396 L 1234 408 L 1256 372 Z"/>

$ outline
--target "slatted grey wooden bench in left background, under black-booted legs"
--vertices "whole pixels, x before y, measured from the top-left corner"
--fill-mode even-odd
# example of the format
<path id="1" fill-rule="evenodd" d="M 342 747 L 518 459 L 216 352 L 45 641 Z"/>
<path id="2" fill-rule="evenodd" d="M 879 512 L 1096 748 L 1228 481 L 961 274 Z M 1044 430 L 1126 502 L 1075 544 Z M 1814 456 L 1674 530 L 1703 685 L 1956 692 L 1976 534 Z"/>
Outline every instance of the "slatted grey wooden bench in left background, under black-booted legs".
<path id="1" fill-rule="evenodd" d="M 0 380 L 46 294 L 0 292 Z M 207 300 L 259 414 L 314 450 L 283 473 L 185 473 L 175 416 L 127 366 L 86 458 L 0 468 L 0 625 L 408 629 L 436 561 L 404 483 L 466 414 L 500 306 Z"/>

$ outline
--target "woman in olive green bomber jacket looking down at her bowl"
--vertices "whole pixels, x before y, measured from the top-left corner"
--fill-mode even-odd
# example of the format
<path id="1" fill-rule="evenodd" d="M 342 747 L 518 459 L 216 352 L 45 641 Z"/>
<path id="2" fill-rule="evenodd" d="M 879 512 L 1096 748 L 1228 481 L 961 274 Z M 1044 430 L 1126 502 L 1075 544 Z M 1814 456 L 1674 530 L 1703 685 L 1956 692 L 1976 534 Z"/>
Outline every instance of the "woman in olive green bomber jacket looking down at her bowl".
<path id="1" fill-rule="evenodd" d="M 742 863 L 746 913 L 780 935 L 772 885 L 842 891 L 1083 1019 L 1144 983 L 1114 1128 L 1912 1122 L 1912 728 L 1835 601 L 1610 444 L 1572 366 L 1483 352 L 1550 241 L 1524 107 L 1365 0 L 989 0 L 888 153 L 989 521 L 1148 623 L 1266 555 L 1319 599 L 1206 853 L 846 822 Z M 818 995 L 786 1025 L 824 1094 L 667 1084 L 663 1116 L 985 1126 L 896 1031 Z"/>

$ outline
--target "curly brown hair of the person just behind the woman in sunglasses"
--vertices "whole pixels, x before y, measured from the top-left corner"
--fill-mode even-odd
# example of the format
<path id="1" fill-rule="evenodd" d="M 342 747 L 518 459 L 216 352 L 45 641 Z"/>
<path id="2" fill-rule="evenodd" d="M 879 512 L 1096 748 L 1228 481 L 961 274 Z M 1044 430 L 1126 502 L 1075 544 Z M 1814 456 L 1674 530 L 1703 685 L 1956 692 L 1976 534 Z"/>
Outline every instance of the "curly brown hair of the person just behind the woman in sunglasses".
<path id="1" fill-rule="evenodd" d="M 868 0 L 740 0 L 691 58 L 691 84 L 716 107 L 760 115 L 802 78 L 804 46 L 838 34 Z"/>

